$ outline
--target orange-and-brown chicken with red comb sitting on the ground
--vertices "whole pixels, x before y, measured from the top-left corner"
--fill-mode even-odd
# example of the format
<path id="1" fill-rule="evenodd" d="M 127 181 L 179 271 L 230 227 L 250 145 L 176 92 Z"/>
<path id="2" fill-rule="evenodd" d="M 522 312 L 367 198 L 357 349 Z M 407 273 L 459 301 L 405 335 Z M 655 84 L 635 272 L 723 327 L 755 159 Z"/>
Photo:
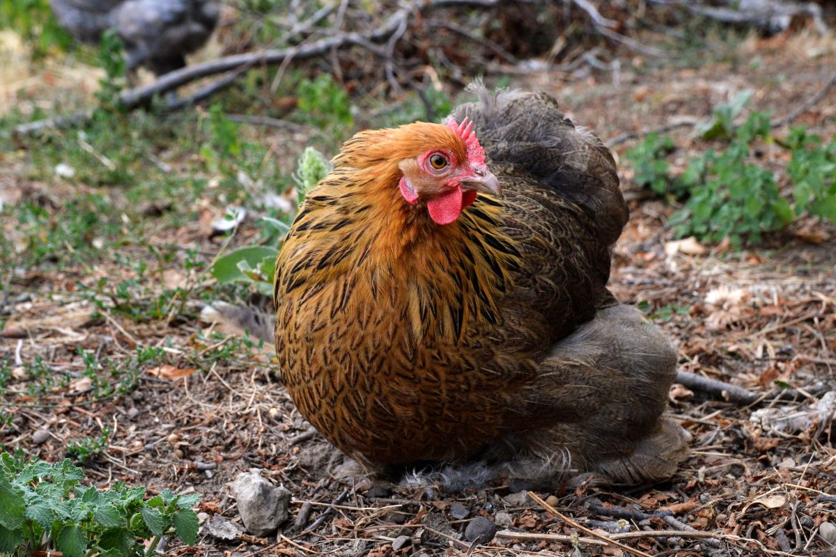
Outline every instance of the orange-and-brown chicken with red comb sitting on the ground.
<path id="1" fill-rule="evenodd" d="M 480 86 L 481 87 L 481 86 Z M 278 362 L 364 466 L 483 462 L 516 479 L 666 479 L 676 352 L 606 288 L 628 210 L 614 160 L 548 94 L 361 131 L 278 254 Z"/>

